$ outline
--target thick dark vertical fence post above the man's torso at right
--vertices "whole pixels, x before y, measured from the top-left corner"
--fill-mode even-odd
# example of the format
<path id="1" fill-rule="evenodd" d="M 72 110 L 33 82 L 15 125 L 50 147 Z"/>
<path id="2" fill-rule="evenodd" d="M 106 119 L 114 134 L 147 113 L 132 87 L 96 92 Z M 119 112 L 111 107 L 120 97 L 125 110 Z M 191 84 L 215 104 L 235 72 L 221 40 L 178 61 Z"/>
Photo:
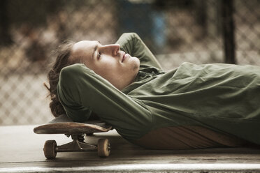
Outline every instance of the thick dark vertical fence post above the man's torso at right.
<path id="1" fill-rule="evenodd" d="M 236 63 L 233 0 L 222 0 L 222 36 L 224 42 L 225 63 Z"/>

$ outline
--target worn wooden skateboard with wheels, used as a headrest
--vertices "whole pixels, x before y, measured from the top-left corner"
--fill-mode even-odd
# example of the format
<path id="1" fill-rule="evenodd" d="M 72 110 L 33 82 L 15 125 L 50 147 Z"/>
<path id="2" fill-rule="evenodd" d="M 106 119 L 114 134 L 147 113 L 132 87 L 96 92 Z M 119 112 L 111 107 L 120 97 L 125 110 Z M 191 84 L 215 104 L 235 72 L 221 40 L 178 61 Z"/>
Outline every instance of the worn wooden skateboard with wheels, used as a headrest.
<path id="1" fill-rule="evenodd" d="M 86 123 L 75 123 L 62 114 L 49 123 L 34 128 L 37 134 L 64 134 L 72 138 L 72 142 L 57 146 L 55 140 L 47 140 L 43 151 L 45 158 L 56 158 L 58 152 L 73 151 L 97 151 L 99 157 L 108 157 L 110 154 L 110 143 L 108 139 L 99 139 L 97 144 L 87 144 L 85 137 L 93 133 L 103 133 L 111 130 L 112 127 L 101 121 L 87 121 Z"/>

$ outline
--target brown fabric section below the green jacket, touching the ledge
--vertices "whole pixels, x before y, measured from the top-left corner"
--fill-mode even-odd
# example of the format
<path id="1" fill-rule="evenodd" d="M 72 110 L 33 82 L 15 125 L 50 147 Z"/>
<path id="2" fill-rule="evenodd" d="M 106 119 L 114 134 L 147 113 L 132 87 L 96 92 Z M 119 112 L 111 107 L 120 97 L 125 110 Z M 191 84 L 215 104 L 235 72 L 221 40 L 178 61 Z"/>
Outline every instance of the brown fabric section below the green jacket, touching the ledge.
<path id="1" fill-rule="evenodd" d="M 203 149 L 245 146 L 249 142 L 201 126 L 178 126 L 152 130 L 136 142 L 147 149 Z"/>

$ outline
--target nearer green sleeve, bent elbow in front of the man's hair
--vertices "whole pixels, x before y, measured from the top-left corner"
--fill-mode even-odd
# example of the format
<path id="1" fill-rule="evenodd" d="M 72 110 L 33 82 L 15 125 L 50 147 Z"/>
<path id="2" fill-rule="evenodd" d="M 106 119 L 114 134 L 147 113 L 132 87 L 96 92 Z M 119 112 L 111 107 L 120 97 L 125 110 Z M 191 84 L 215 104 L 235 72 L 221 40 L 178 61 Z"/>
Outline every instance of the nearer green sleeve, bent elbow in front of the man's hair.
<path id="1" fill-rule="evenodd" d="M 136 138 L 140 129 L 145 131 L 152 122 L 150 110 L 140 100 L 122 93 L 84 64 L 63 68 L 57 89 L 59 100 L 73 121 L 86 121 L 93 111 L 121 135 L 129 136 L 130 132 L 129 139 Z"/>

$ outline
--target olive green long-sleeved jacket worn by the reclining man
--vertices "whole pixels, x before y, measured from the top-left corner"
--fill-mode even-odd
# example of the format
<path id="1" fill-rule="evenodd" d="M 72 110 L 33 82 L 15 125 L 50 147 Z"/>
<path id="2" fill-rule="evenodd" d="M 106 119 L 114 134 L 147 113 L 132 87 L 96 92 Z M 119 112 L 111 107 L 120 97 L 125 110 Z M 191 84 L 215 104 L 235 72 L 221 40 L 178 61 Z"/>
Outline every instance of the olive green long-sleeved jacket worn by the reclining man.
<path id="1" fill-rule="evenodd" d="M 182 63 L 164 72 L 136 33 L 124 33 L 117 43 L 140 59 L 135 82 L 122 91 L 83 64 L 62 69 L 58 96 L 73 121 L 86 121 L 93 111 L 129 141 L 189 125 L 260 144 L 258 66 Z"/>

